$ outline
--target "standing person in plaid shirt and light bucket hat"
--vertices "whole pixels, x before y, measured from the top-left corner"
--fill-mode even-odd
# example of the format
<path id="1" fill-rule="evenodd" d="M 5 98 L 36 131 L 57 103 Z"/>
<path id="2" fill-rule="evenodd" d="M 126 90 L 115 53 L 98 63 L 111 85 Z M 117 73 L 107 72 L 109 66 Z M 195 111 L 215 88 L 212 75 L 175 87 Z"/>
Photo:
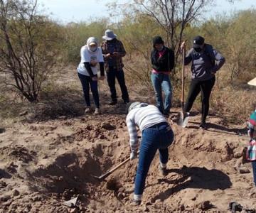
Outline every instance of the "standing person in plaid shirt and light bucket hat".
<path id="1" fill-rule="evenodd" d="M 112 99 L 110 105 L 117 104 L 117 91 L 115 88 L 116 78 L 122 92 L 124 104 L 127 104 L 129 102 L 129 94 L 124 80 L 124 64 L 122 62 L 122 57 L 126 55 L 124 45 L 120 40 L 117 40 L 117 35 L 111 30 L 105 31 L 105 35 L 103 35 L 102 38 L 104 39 L 102 43 L 102 53 L 105 59 L 107 83 L 110 87 Z"/>

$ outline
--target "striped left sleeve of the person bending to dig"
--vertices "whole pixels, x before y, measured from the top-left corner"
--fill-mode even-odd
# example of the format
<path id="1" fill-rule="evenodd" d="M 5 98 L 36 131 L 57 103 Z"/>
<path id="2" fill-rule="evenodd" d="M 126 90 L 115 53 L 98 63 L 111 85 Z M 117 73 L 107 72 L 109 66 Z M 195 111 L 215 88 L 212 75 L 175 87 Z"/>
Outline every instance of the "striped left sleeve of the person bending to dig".
<path id="1" fill-rule="evenodd" d="M 131 146 L 131 151 L 133 153 L 137 153 L 139 149 L 139 140 L 138 140 L 138 135 L 137 135 L 137 129 L 136 125 L 134 123 L 134 119 L 130 118 L 129 114 L 127 115 L 127 129 L 129 132 L 129 137 L 130 137 L 130 146 Z"/>

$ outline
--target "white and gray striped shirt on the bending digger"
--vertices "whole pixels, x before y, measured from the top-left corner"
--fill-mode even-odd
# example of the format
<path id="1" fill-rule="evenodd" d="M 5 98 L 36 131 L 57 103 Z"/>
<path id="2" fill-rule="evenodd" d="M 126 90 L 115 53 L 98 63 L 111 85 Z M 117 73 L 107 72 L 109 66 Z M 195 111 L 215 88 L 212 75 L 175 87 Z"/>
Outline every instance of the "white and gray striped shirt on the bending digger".
<path id="1" fill-rule="evenodd" d="M 139 127 L 140 131 L 143 131 L 155 124 L 166 122 L 166 119 L 157 107 L 154 105 L 145 105 L 145 103 L 139 104 L 127 114 L 126 122 L 132 152 L 137 152 L 139 148 L 136 126 Z"/>

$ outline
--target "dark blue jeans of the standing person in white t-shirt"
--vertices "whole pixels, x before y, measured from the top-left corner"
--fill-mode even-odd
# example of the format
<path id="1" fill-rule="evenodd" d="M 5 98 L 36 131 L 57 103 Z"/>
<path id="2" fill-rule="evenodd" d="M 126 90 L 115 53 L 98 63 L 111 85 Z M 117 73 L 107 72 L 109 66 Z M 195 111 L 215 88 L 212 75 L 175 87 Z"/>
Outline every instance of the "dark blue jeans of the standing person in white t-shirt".
<path id="1" fill-rule="evenodd" d="M 95 102 L 95 107 L 100 108 L 100 98 L 97 90 L 97 81 L 92 81 L 90 76 L 82 75 L 78 72 L 78 77 L 82 84 L 82 91 L 85 97 L 85 103 L 87 107 L 90 107 L 90 89 L 92 91 L 92 97 Z"/>

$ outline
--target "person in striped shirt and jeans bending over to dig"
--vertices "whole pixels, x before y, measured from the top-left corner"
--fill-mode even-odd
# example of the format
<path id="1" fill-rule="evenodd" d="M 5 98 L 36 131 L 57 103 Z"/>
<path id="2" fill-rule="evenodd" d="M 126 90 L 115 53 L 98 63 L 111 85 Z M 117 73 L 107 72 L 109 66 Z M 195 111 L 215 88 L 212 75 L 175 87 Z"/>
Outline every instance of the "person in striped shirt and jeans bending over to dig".
<path id="1" fill-rule="evenodd" d="M 139 150 L 139 163 L 134 184 L 134 204 L 141 204 L 145 187 L 146 175 L 149 166 L 159 150 L 159 170 L 167 175 L 166 164 L 169 157 L 168 147 L 174 141 L 174 132 L 167 123 L 164 115 L 154 105 L 130 102 L 127 104 L 127 129 L 130 137 L 130 160 L 137 158 Z M 137 129 L 142 132 L 142 141 L 139 147 Z"/>

